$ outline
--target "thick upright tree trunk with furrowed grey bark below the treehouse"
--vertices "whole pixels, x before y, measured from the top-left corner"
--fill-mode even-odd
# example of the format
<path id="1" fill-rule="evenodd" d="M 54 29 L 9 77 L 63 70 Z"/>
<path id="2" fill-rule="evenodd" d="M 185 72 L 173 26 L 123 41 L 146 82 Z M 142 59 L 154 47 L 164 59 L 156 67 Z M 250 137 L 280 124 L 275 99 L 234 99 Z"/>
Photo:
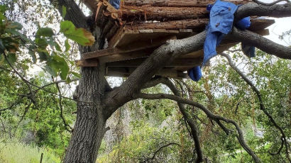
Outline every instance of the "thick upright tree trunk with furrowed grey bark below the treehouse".
<path id="1" fill-rule="evenodd" d="M 97 28 L 95 35 L 99 36 Z M 98 41 L 92 47 L 80 47 L 80 52 L 91 52 L 98 49 Z M 81 56 L 82 57 L 82 56 Z M 105 68 L 82 67 L 82 78 L 77 87 L 77 120 L 65 154 L 65 163 L 95 162 L 101 140 L 106 132 L 105 106 L 102 105 L 106 91 Z"/>

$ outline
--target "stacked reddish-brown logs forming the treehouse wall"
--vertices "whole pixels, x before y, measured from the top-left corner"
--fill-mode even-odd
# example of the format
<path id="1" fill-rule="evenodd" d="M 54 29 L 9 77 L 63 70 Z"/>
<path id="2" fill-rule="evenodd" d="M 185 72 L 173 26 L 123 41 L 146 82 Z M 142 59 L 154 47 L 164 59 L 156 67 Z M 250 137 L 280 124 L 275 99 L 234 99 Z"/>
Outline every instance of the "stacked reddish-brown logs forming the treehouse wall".
<path id="1" fill-rule="evenodd" d="M 231 0 L 229 0 L 231 1 Z M 248 0 L 234 0 L 245 4 Z M 110 40 L 117 30 L 203 30 L 208 22 L 207 4 L 214 0 L 123 0 L 119 10 L 106 0 L 97 4 L 95 21 L 101 37 Z"/>

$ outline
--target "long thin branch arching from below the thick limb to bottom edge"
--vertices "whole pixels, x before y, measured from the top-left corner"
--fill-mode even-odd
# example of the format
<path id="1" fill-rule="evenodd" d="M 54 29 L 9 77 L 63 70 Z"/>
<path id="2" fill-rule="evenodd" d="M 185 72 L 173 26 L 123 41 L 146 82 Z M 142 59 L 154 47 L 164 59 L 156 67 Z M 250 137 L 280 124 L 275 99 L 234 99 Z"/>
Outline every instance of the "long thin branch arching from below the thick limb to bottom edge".
<path id="1" fill-rule="evenodd" d="M 227 119 L 221 116 L 216 116 L 214 113 L 212 113 L 211 111 L 209 111 L 207 108 L 205 108 L 202 104 L 191 101 L 191 100 L 187 100 L 187 99 L 183 99 L 180 96 L 175 96 L 175 95 L 170 95 L 170 94 L 136 94 L 133 96 L 135 99 L 141 98 L 141 99 L 170 99 L 173 101 L 177 101 L 179 103 L 185 103 L 188 104 L 190 106 L 195 106 L 197 108 L 200 108 L 209 118 L 213 119 L 216 121 L 222 120 L 226 123 L 231 123 L 235 126 L 236 130 L 238 131 L 238 135 L 236 135 L 238 142 L 240 142 L 241 146 L 243 147 L 244 150 L 246 150 L 246 152 L 248 152 L 248 154 L 251 155 L 251 157 L 253 157 L 254 161 L 256 163 L 261 162 L 260 159 L 258 158 L 258 156 L 255 154 L 255 152 L 253 152 L 253 150 L 251 150 L 250 147 L 248 147 L 248 145 L 246 144 L 246 141 L 243 138 L 243 132 L 241 130 L 241 128 L 239 128 L 239 125 L 231 119 Z"/>

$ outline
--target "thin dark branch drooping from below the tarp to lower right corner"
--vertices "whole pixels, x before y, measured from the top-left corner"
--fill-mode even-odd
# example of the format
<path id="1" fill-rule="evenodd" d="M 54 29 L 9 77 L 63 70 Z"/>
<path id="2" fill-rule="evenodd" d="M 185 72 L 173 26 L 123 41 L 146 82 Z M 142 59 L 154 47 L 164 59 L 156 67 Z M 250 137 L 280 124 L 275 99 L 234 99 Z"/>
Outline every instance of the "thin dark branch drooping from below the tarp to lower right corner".
<path id="1" fill-rule="evenodd" d="M 287 159 L 291 162 L 291 159 L 289 157 L 289 151 L 288 151 L 290 145 L 287 142 L 285 132 L 278 125 L 278 123 L 275 122 L 275 119 L 273 118 L 273 116 L 271 116 L 270 113 L 268 113 L 268 111 L 265 109 L 265 105 L 263 103 L 263 99 L 262 99 L 262 95 L 260 94 L 260 91 L 257 89 L 257 87 L 255 86 L 255 84 L 253 84 L 253 82 L 251 81 L 251 79 L 248 79 L 248 77 L 246 77 L 246 75 L 243 74 L 243 72 L 241 72 L 241 70 L 239 70 L 238 67 L 236 67 L 236 65 L 234 64 L 234 62 L 232 62 L 231 57 L 229 55 L 227 55 L 224 52 L 222 52 L 220 55 L 226 57 L 226 59 L 229 61 L 229 65 L 231 66 L 231 68 L 234 69 L 239 74 L 239 76 L 241 76 L 241 78 L 244 81 L 246 81 L 246 83 L 249 86 L 251 86 L 251 89 L 253 89 L 253 91 L 258 96 L 258 101 L 260 102 L 260 110 L 263 111 L 263 113 L 265 113 L 265 115 L 269 118 L 269 120 L 271 121 L 271 123 L 273 123 L 273 125 L 275 126 L 275 128 L 277 128 L 278 130 L 280 130 L 280 133 L 282 135 L 282 141 L 285 143 L 285 147 L 286 147 L 286 151 L 285 152 L 286 152 Z M 282 148 L 280 147 L 277 153 L 280 153 L 281 150 L 282 150 Z"/>

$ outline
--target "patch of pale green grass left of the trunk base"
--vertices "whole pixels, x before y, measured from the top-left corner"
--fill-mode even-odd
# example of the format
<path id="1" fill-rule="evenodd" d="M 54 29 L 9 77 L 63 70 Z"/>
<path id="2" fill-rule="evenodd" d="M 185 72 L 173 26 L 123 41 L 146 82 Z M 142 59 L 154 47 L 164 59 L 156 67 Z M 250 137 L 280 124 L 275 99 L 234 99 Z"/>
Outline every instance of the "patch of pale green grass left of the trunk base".
<path id="1" fill-rule="evenodd" d="M 43 163 L 58 163 L 60 158 L 45 148 L 26 145 L 18 141 L 0 140 L 1 163 L 39 163 L 43 153 Z"/>

